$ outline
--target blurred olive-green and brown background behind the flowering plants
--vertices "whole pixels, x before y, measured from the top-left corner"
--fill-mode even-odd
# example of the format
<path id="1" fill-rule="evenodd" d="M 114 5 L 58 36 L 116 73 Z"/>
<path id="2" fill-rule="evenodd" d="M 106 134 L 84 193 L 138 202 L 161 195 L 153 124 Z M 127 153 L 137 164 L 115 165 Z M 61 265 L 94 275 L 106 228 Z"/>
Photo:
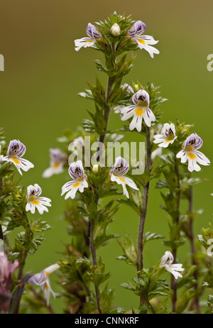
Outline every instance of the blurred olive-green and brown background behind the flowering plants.
<path id="1" fill-rule="evenodd" d="M 18 138 L 26 147 L 25 158 L 35 168 L 23 173 L 23 184 L 38 183 L 43 196 L 52 199 L 53 206 L 43 219 L 53 226 L 46 233 L 46 241 L 35 256 L 28 256 L 26 270 L 34 273 L 58 260 L 58 252 L 68 241 L 66 225 L 60 220 L 65 201 L 60 197 L 61 186 L 68 180 L 67 172 L 50 180 L 41 177 L 48 168 L 50 147 L 60 146 L 56 138 L 64 128 L 75 130 L 88 118 L 85 109 L 92 103 L 85 102 L 77 93 L 87 86 L 85 79 L 94 82 L 97 73 L 92 62 L 101 58 L 92 49 L 75 52 L 74 40 L 85 36 L 88 22 L 103 20 L 114 11 L 132 14 L 134 20 L 146 23 L 146 34 L 160 40 L 160 55 L 152 59 L 145 50 L 138 51 L 135 67 L 124 82 L 140 78 L 143 84 L 151 80 L 160 85 L 163 97 L 169 99 L 163 105 L 163 121 L 178 118 L 187 124 L 195 123 L 195 132 L 204 140 L 202 151 L 210 160 L 212 155 L 212 82 L 213 72 L 207 71 L 207 55 L 213 53 L 211 0 L 150 0 L 150 1 L 68 1 L 68 0 L 1 0 L 0 53 L 4 55 L 5 72 L 0 72 L 1 126 L 6 128 L 9 142 Z M 98 73 L 102 76 L 102 73 Z M 111 113 L 109 128 L 121 126 L 118 115 Z M 136 140 L 132 133 L 129 140 Z M 209 181 L 195 187 L 195 209 L 204 209 L 197 217 L 196 233 L 212 221 L 213 192 L 212 168 L 202 167 L 195 176 L 207 177 Z M 20 175 L 16 175 L 17 178 Z M 148 201 L 146 231 L 168 237 L 167 215 L 160 209 L 162 200 L 158 190 L 151 187 Z M 186 204 L 183 204 L 183 208 Z M 138 217 L 123 207 L 111 225 L 111 231 L 124 236 L 129 232 L 136 241 Z M 153 241 L 145 249 L 145 267 L 155 264 L 167 249 L 161 241 Z M 185 261 L 189 251 L 186 245 L 179 252 L 180 262 Z M 137 307 L 138 299 L 119 286 L 136 272 L 126 263 L 116 261 L 121 255 L 116 241 L 102 248 L 107 270 L 112 272 L 110 286 L 115 288 L 114 302 L 129 310 Z M 170 275 L 165 275 L 170 280 Z M 54 283 L 57 292 L 60 286 Z M 56 312 L 62 313 L 63 302 L 52 300 Z"/>

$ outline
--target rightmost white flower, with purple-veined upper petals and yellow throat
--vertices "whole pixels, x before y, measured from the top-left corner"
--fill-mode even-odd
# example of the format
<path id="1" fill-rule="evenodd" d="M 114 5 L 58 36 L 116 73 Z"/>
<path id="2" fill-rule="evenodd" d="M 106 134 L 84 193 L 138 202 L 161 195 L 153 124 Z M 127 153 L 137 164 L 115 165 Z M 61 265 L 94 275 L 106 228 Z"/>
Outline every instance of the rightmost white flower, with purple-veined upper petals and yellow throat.
<path id="1" fill-rule="evenodd" d="M 201 168 L 197 164 L 209 165 L 210 160 L 200 151 L 197 151 L 202 146 L 202 138 L 192 133 L 182 144 L 182 151 L 177 154 L 177 158 L 181 158 L 181 163 L 186 163 L 188 160 L 188 170 L 192 172 L 200 171 Z"/>

